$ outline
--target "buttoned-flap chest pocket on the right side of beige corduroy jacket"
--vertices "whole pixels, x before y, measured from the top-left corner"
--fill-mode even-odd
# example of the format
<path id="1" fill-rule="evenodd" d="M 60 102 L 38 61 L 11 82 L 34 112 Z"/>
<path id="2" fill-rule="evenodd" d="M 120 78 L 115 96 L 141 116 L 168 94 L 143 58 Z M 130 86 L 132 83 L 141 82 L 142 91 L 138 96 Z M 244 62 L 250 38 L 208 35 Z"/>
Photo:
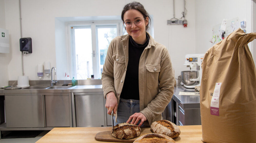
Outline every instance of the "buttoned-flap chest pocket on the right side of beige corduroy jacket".
<path id="1" fill-rule="evenodd" d="M 147 69 L 147 87 L 155 89 L 159 86 L 158 76 L 160 72 L 160 65 L 146 65 Z"/>

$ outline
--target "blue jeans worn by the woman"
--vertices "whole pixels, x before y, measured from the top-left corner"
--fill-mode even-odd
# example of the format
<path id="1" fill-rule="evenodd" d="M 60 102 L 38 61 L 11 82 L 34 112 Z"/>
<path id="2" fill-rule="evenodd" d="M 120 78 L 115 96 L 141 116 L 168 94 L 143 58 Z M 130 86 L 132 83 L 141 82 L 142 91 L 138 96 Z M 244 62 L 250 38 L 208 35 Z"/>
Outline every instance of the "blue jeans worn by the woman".
<path id="1" fill-rule="evenodd" d="M 118 109 L 117 109 L 117 123 L 114 122 L 114 125 L 119 123 L 126 123 L 130 116 L 134 113 L 140 112 L 140 101 L 134 99 L 122 99 L 120 98 Z M 115 116 L 113 117 L 115 121 Z M 132 121 L 132 120 L 131 120 Z M 130 121 L 130 122 L 131 122 Z M 140 120 L 141 121 L 141 120 Z M 140 121 L 137 123 L 140 124 Z M 144 123 L 141 126 L 145 126 Z"/>

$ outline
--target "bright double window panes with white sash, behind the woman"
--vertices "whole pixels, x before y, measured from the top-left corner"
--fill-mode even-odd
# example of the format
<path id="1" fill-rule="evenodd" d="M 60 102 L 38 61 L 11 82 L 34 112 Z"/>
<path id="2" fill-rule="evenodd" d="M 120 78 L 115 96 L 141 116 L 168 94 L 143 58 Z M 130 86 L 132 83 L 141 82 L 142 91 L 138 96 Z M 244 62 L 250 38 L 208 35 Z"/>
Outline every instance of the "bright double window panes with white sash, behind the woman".
<path id="1" fill-rule="evenodd" d="M 91 78 L 91 75 L 101 78 L 109 44 L 118 35 L 117 24 L 71 26 L 71 29 L 73 76 L 76 79 Z"/>

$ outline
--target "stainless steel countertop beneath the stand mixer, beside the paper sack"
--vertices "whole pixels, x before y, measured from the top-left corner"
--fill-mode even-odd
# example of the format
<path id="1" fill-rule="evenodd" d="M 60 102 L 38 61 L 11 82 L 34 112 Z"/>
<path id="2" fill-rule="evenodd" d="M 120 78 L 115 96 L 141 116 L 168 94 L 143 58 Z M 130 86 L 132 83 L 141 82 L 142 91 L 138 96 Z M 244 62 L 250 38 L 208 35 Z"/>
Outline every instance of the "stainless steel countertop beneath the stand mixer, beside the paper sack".
<path id="1" fill-rule="evenodd" d="M 195 92 L 195 89 L 187 89 L 182 85 L 174 87 L 174 95 L 172 99 L 183 109 L 200 108 L 199 95 L 179 95 L 179 92 Z"/>

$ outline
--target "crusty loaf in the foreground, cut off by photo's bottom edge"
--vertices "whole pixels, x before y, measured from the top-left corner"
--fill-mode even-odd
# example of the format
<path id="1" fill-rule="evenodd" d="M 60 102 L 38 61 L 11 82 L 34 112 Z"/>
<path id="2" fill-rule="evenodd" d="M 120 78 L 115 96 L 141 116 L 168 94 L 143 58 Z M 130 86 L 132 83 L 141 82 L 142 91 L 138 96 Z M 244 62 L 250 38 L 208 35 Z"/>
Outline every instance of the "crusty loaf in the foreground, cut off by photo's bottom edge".
<path id="1" fill-rule="evenodd" d="M 172 138 L 163 135 L 163 134 L 146 134 L 143 135 L 136 140 L 134 140 L 133 143 L 173 143 L 175 142 Z"/>

